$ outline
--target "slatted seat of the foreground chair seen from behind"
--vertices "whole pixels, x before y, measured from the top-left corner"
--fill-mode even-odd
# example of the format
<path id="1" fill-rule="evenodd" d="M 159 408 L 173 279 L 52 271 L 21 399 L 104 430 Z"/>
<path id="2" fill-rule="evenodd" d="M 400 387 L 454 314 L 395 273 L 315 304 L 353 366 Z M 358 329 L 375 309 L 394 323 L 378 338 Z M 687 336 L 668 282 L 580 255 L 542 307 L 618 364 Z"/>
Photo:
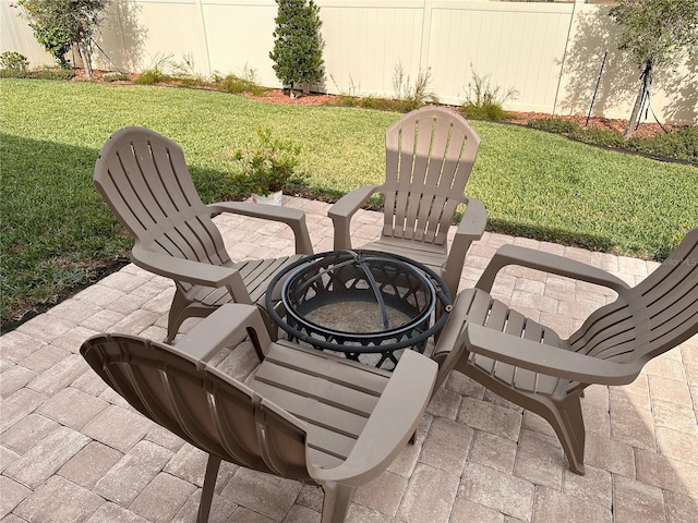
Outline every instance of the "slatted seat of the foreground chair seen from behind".
<path id="1" fill-rule="evenodd" d="M 390 376 L 279 341 L 270 345 L 248 386 L 308 423 L 311 460 L 316 466 L 332 469 L 353 449 Z"/>

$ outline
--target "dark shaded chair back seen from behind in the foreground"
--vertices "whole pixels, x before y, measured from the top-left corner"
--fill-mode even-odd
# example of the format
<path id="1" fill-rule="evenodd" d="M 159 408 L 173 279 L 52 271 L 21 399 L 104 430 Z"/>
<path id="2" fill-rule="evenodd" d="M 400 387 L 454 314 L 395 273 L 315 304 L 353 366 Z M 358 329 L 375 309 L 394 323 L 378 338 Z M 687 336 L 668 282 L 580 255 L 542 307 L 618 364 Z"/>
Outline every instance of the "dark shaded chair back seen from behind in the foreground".
<path id="1" fill-rule="evenodd" d="M 309 479 L 303 422 L 176 348 L 98 335 L 81 354 L 136 411 L 224 461 Z"/>

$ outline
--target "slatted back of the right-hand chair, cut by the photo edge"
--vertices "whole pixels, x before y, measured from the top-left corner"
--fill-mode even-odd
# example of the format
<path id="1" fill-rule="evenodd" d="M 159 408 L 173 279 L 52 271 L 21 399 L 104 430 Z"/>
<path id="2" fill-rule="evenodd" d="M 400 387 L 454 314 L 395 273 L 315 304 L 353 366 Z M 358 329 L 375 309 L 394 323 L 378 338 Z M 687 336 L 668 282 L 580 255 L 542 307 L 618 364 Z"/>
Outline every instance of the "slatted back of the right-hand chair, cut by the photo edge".
<path id="1" fill-rule="evenodd" d="M 595 357 L 630 363 L 652 357 L 698 333 L 698 228 L 638 285 L 595 311 L 569 343 Z"/>

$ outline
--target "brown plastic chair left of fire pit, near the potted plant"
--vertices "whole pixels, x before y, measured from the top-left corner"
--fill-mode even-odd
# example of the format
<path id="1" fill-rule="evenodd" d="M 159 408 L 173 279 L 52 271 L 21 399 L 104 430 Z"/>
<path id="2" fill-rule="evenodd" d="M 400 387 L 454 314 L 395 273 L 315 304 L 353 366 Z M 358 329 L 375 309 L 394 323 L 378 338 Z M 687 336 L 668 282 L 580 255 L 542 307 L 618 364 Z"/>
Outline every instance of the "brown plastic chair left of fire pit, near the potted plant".
<path id="1" fill-rule="evenodd" d="M 94 182 L 135 239 L 133 263 L 174 280 L 166 341 L 174 339 L 186 318 L 205 317 L 225 303 L 262 305 L 272 278 L 313 254 L 301 210 L 242 202 L 204 205 L 181 147 L 147 129 L 117 131 L 99 153 Z M 233 263 L 210 219 L 217 212 L 288 224 L 296 234 L 297 255 Z"/>

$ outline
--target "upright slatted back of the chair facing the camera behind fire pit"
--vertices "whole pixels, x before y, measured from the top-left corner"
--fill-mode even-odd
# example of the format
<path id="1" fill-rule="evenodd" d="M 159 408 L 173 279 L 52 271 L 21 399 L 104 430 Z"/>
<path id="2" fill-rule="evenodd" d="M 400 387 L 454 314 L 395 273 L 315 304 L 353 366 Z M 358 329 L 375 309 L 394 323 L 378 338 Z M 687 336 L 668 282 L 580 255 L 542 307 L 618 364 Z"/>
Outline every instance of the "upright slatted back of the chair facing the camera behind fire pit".
<path id="1" fill-rule="evenodd" d="M 454 111 L 424 107 L 385 133 L 383 235 L 446 245 L 459 204 L 466 203 L 480 137 Z"/>

